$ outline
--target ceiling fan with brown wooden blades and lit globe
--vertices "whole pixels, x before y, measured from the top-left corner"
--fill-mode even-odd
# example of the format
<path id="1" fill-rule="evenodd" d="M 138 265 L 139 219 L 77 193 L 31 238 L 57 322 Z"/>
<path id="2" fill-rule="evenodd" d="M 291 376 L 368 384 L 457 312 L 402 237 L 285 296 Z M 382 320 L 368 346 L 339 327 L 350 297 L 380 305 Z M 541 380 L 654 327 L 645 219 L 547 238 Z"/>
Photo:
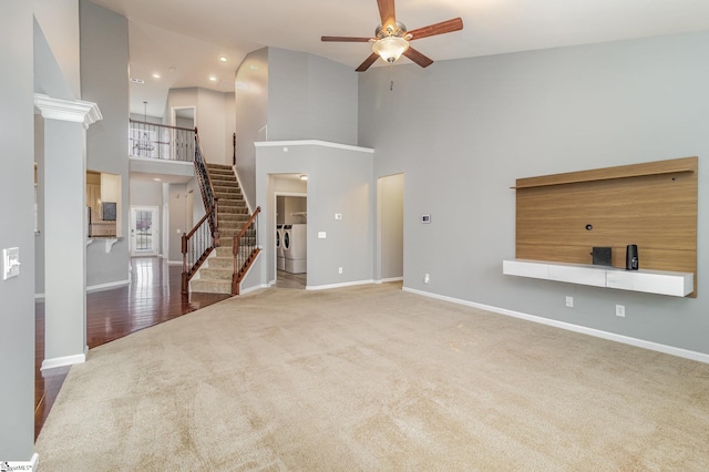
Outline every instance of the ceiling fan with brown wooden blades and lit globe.
<path id="1" fill-rule="evenodd" d="M 433 61 L 409 45 L 410 41 L 436 34 L 450 33 L 463 29 L 463 20 L 454 18 L 428 27 L 407 31 L 407 27 L 397 21 L 394 16 L 394 0 L 377 0 L 381 25 L 374 31 L 374 38 L 322 37 L 322 41 L 333 42 L 371 42 L 372 53 L 362 62 L 357 72 L 364 72 L 377 59 L 394 63 L 401 54 L 405 55 L 422 68 L 428 68 Z"/>

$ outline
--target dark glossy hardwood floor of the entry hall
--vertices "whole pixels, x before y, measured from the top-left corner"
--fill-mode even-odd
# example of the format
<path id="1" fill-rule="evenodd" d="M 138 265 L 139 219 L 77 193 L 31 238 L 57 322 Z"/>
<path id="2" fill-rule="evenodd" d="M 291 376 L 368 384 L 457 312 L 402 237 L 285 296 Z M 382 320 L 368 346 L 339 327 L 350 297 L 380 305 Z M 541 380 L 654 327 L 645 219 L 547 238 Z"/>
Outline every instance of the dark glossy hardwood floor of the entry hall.
<path id="1" fill-rule="evenodd" d="M 131 260 L 131 285 L 86 295 L 86 343 L 104 345 L 229 298 L 229 295 L 179 291 L 181 266 L 157 257 Z M 52 409 L 70 367 L 41 371 L 44 359 L 44 302 L 35 304 L 34 439 Z"/>

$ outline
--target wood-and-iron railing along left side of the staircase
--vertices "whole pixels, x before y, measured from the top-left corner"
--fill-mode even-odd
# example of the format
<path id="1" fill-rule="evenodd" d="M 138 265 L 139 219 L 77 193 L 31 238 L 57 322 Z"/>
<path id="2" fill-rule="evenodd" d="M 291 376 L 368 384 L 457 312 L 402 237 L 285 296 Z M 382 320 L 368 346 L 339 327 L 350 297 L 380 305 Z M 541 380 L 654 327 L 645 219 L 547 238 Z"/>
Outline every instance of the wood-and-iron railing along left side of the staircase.
<path id="1" fill-rule="evenodd" d="M 219 246 L 218 207 L 219 199 L 214 195 L 212 178 L 202 153 L 199 135 L 195 127 L 195 175 L 205 207 L 205 215 L 187 234 L 182 235 L 182 293 L 189 291 L 189 280 L 209 256 Z"/>

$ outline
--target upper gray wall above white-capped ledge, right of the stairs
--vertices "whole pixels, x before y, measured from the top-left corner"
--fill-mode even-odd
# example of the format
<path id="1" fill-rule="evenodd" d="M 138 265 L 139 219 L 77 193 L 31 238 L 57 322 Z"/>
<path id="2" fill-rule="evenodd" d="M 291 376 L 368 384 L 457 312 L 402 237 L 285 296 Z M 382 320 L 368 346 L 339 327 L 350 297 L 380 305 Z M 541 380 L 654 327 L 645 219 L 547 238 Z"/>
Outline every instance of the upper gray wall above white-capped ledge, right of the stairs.
<path id="1" fill-rule="evenodd" d="M 249 54 L 236 73 L 237 172 L 255 202 L 254 142 L 320 140 L 357 144 L 357 74 L 301 52 L 268 48 Z"/>

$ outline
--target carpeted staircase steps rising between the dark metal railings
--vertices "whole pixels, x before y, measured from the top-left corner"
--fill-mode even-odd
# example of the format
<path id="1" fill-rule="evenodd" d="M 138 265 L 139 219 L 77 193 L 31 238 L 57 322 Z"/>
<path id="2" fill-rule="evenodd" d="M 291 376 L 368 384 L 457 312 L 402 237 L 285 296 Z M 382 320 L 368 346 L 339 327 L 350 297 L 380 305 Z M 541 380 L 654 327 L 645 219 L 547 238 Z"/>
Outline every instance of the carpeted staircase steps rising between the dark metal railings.
<path id="1" fill-rule="evenodd" d="M 248 207 L 230 165 L 206 164 L 212 179 L 214 194 L 219 198 L 217 207 L 217 228 L 219 247 L 202 265 L 191 280 L 191 291 L 207 294 L 232 294 L 234 274 L 234 235 L 249 219 Z"/>

